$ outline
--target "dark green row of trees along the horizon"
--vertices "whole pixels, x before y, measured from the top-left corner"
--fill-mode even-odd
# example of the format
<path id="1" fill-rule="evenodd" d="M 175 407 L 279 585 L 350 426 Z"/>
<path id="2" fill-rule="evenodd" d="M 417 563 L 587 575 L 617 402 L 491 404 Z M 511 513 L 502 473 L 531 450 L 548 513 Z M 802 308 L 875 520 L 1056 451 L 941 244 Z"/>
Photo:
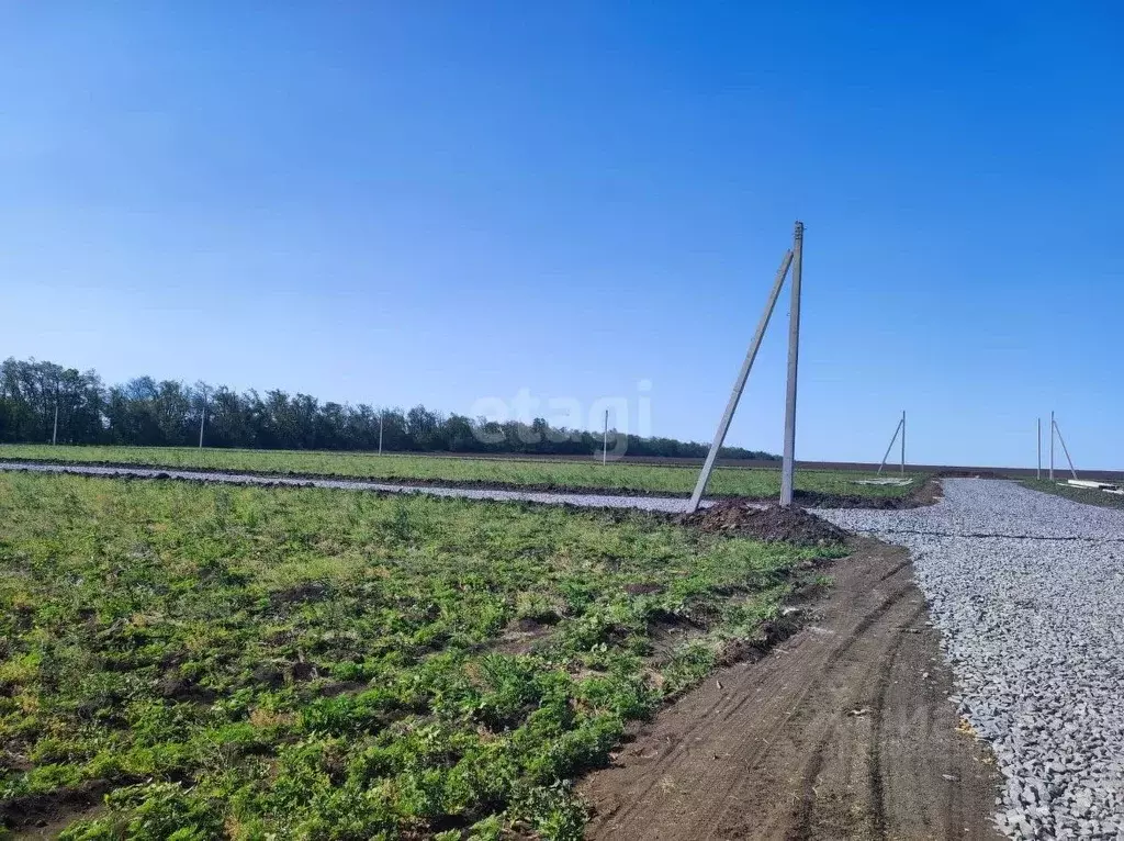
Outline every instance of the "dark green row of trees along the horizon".
<path id="1" fill-rule="evenodd" d="M 57 423 L 56 423 L 57 419 Z M 262 450 L 378 450 L 582 455 L 601 450 L 601 435 L 532 423 L 497 423 L 445 415 L 424 406 L 355 406 L 280 390 L 237 392 L 226 386 L 139 377 L 105 386 L 97 371 L 9 358 L 0 364 L 0 442 L 194 446 Z M 706 455 L 707 445 L 610 432 L 620 455 Z M 727 459 L 777 459 L 723 447 Z"/>

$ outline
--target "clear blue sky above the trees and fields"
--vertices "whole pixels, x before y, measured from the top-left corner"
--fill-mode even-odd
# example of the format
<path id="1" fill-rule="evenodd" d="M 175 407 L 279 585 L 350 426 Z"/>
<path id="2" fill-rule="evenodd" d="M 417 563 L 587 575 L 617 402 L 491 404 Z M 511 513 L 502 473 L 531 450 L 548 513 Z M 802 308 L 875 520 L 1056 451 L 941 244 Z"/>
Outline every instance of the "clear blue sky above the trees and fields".
<path id="1" fill-rule="evenodd" d="M 910 460 L 1027 464 L 1057 408 L 1121 469 L 1122 43 L 1109 3 L 7 3 L 0 356 L 462 413 L 647 380 L 708 440 L 799 218 L 800 458 L 906 409 Z M 787 311 L 731 443 L 780 450 Z"/>

